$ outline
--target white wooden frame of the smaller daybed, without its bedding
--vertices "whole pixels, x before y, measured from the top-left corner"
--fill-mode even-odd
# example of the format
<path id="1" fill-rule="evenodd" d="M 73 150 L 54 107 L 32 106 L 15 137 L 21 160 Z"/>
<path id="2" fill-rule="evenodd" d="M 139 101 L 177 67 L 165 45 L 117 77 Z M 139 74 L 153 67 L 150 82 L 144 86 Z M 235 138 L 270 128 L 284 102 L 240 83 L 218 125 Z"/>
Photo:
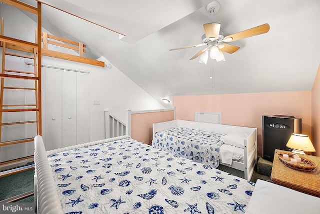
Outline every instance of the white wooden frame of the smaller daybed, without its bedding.
<path id="1" fill-rule="evenodd" d="M 230 134 L 236 132 L 245 132 L 248 137 L 244 139 L 244 161 L 243 163 L 232 160 L 232 164 L 219 163 L 234 169 L 238 169 L 244 172 L 244 179 L 250 180 L 254 171 L 254 166 L 257 161 L 257 129 L 242 127 L 242 126 L 231 126 L 213 123 L 194 122 L 188 120 L 171 120 L 162 123 L 153 123 L 152 137 L 154 138 L 155 133 L 165 129 L 174 127 L 184 127 L 203 131 L 217 132 L 221 134 Z"/>

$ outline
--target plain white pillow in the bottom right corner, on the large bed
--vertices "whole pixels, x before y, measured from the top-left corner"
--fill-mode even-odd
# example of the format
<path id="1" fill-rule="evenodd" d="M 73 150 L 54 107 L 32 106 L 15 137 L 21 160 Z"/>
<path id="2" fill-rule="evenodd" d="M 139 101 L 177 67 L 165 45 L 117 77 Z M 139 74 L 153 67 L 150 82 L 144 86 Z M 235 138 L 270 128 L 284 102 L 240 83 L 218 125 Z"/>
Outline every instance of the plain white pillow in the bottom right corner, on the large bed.
<path id="1" fill-rule="evenodd" d="M 264 180 L 257 180 L 245 214 L 318 214 L 320 198 Z"/>

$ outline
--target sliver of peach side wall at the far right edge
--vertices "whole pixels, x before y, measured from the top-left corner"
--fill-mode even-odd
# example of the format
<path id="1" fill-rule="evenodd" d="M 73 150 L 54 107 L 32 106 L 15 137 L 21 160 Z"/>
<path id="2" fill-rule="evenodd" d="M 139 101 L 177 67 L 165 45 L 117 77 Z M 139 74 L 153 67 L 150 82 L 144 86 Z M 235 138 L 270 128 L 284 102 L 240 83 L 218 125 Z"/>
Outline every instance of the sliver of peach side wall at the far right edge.
<path id="1" fill-rule="evenodd" d="M 320 156 L 320 65 L 314 79 L 312 91 L 312 143 L 314 155 Z"/>

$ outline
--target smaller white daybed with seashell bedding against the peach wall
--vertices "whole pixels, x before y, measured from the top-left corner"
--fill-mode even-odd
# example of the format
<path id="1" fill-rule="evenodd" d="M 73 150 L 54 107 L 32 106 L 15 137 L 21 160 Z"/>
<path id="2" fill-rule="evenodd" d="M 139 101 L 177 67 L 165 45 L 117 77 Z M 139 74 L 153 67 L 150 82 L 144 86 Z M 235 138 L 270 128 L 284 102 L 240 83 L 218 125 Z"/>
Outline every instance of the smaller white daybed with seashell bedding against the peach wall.
<path id="1" fill-rule="evenodd" d="M 171 120 L 153 123 L 151 145 L 214 168 L 221 164 L 243 171 L 247 180 L 257 161 L 256 128 Z"/>

